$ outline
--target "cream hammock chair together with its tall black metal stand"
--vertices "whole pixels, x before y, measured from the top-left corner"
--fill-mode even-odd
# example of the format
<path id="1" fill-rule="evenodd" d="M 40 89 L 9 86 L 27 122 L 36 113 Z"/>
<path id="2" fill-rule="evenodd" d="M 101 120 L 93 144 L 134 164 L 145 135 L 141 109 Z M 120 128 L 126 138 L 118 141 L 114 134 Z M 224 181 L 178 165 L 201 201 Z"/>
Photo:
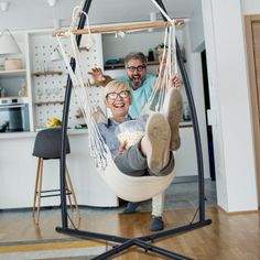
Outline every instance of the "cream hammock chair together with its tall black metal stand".
<path id="1" fill-rule="evenodd" d="M 164 46 L 167 45 L 167 50 L 164 48 L 163 51 L 163 58 L 166 58 L 166 66 L 165 66 L 166 71 L 162 73 L 162 67 L 160 68 L 159 78 L 154 87 L 154 93 L 151 95 L 151 98 L 144 108 L 144 113 L 149 112 L 150 105 L 152 104 L 152 100 L 154 99 L 154 96 L 156 95 L 156 91 L 159 88 L 160 88 L 160 91 L 159 91 L 160 97 L 156 102 L 155 111 L 161 110 L 164 97 L 166 95 L 166 89 L 167 89 L 170 78 L 172 77 L 172 75 L 176 73 L 176 67 L 177 67 L 176 55 L 175 55 L 175 51 L 176 51 L 178 68 L 182 74 L 184 87 L 187 94 L 188 105 L 191 107 L 194 137 L 195 137 L 195 143 L 196 143 L 197 170 L 198 170 L 198 208 L 195 213 L 195 216 L 198 213 L 198 220 L 195 221 L 195 216 L 194 216 L 191 223 L 181 227 L 172 228 L 169 230 L 162 230 L 156 234 L 147 235 L 142 237 L 126 238 L 126 237 L 115 236 L 115 235 L 79 230 L 75 227 L 74 223 L 68 216 L 67 204 L 66 204 L 66 182 L 65 182 L 66 153 L 65 151 L 66 151 L 66 133 L 67 133 L 66 127 L 67 127 L 67 121 L 68 121 L 72 85 L 74 86 L 74 90 L 78 98 L 78 102 L 83 109 L 84 117 L 88 124 L 90 154 L 94 156 L 96 161 L 96 165 L 99 169 L 100 175 L 108 183 L 108 185 L 112 187 L 117 196 L 122 197 L 127 201 L 131 201 L 131 202 L 143 201 L 143 199 L 153 197 L 156 194 L 162 193 L 171 184 L 175 174 L 175 170 L 174 170 L 171 174 L 166 176 L 162 176 L 162 177 L 161 176 L 160 177 L 159 176 L 131 177 L 118 171 L 115 162 L 112 161 L 109 149 L 107 148 L 106 143 L 104 143 L 102 138 L 98 131 L 96 121 L 94 119 L 93 113 L 95 113 L 95 108 L 89 106 L 89 104 L 91 104 L 90 98 L 89 98 L 90 95 L 88 93 L 90 88 L 88 88 L 89 84 L 85 83 L 83 79 L 83 76 L 82 76 L 83 72 L 80 68 L 80 64 L 83 63 L 83 61 L 80 58 L 80 55 L 77 48 L 77 46 L 79 46 L 80 44 L 82 34 L 84 34 L 84 31 L 86 33 L 86 30 L 84 30 L 86 19 L 87 19 L 87 32 L 88 32 L 89 37 L 91 36 L 90 35 L 91 32 L 95 31 L 97 33 L 102 33 L 102 31 L 98 31 L 96 29 L 90 30 L 88 17 L 86 13 L 88 13 L 88 10 L 91 4 L 91 0 L 85 0 L 84 4 L 83 4 L 84 1 L 82 1 L 79 8 L 75 10 L 74 12 L 73 23 L 72 23 L 71 29 L 64 33 L 63 32 L 54 33 L 54 35 L 57 36 L 57 41 L 59 42 L 62 54 L 65 59 L 68 73 L 69 73 L 68 78 L 67 78 L 65 102 L 64 102 L 64 110 L 63 110 L 63 136 L 62 136 L 63 142 L 62 142 L 62 154 L 61 154 L 62 156 L 61 156 L 61 167 L 59 167 L 61 189 L 62 189 L 62 193 L 61 193 L 62 227 L 56 227 L 56 231 L 71 235 L 71 236 L 82 237 L 82 238 L 91 238 L 91 239 L 121 243 L 121 245 L 115 246 L 112 249 L 93 259 L 98 259 L 98 260 L 109 259 L 110 257 L 116 256 L 127 250 L 128 248 L 136 246 L 136 247 L 140 247 L 144 249 L 145 252 L 148 251 L 155 252 L 158 254 L 161 254 L 170 259 L 187 260 L 191 258 L 175 253 L 174 251 L 170 251 L 164 248 L 156 247 L 152 245 L 152 242 L 155 241 L 155 239 L 169 237 L 171 235 L 176 235 L 184 231 L 189 231 L 196 228 L 204 227 L 212 223 L 210 219 L 205 218 L 204 169 L 203 169 L 203 153 L 202 153 L 199 128 L 198 128 L 196 109 L 195 109 L 195 105 L 193 100 L 193 95 L 192 95 L 188 77 L 186 74 L 185 66 L 182 61 L 182 54 L 181 54 L 178 43 L 175 39 L 174 20 L 171 20 L 167 17 L 166 10 L 163 6 L 162 0 L 151 0 L 151 1 L 160 10 L 164 20 L 164 26 L 166 24 Z M 80 10 L 84 10 L 84 11 L 80 11 Z M 80 13 L 80 18 L 78 17 L 79 13 Z M 76 24 L 78 24 L 77 30 L 74 30 Z M 138 26 L 136 26 L 136 24 L 131 24 L 131 25 L 132 26 L 128 26 L 129 30 L 140 29 L 140 24 Z M 162 24 L 160 24 L 160 26 L 162 26 Z M 144 24 L 142 28 L 143 29 L 145 28 Z M 156 26 L 154 24 L 153 25 L 147 24 L 145 29 L 149 29 L 149 28 L 156 28 Z M 111 29 L 110 31 L 112 32 Z M 76 35 L 76 39 L 74 35 Z M 72 43 L 71 45 L 73 48 L 73 57 L 71 58 L 71 62 L 68 62 L 67 59 L 67 56 L 62 46 L 59 36 L 68 36 L 71 39 L 71 43 Z M 68 219 L 71 219 L 71 224 L 74 226 L 74 228 L 69 228 Z"/>

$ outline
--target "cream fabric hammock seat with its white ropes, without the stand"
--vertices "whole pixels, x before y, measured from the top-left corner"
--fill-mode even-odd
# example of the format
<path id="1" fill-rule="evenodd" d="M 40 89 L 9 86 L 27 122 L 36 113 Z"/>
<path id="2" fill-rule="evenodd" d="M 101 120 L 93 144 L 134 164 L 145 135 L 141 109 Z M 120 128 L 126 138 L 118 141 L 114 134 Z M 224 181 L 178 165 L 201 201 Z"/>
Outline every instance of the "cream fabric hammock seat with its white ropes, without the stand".
<path id="1" fill-rule="evenodd" d="M 161 10 L 162 11 L 162 10 Z M 79 17 L 78 14 L 84 13 L 79 10 L 79 8 L 74 9 L 73 13 L 73 24 Z M 94 43 L 91 40 L 91 30 L 89 26 L 88 15 L 86 15 L 87 20 L 87 29 L 88 29 L 88 41 L 90 42 L 89 46 Z M 166 15 L 166 14 L 165 14 Z M 155 111 L 161 111 L 164 97 L 166 91 L 171 86 L 171 79 L 173 75 L 177 73 L 177 63 L 176 63 L 176 50 L 175 50 L 175 21 L 169 19 L 164 33 L 164 48 L 162 53 L 162 61 L 165 61 L 165 69 L 163 69 L 163 65 L 161 63 L 159 69 L 159 76 L 155 82 L 154 89 L 143 108 L 142 113 L 150 113 L 151 105 L 154 102 L 156 98 Z M 63 46 L 63 42 L 61 41 L 61 36 L 56 35 L 62 56 L 65 61 L 66 68 L 71 76 L 73 83 L 73 89 L 75 91 L 75 96 L 78 100 L 80 109 L 84 115 L 84 119 L 88 126 L 88 137 L 89 137 L 89 151 L 90 156 L 94 158 L 96 162 L 96 167 L 98 169 L 98 173 L 105 180 L 105 182 L 111 187 L 115 194 L 126 201 L 129 202 L 141 202 L 149 199 L 158 194 L 164 192 L 167 186 L 172 183 L 175 176 L 175 167 L 172 173 L 164 176 L 129 176 L 120 172 L 115 164 L 109 148 L 105 143 L 99 129 L 97 127 L 95 120 L 95 112 L 97 112 L 97 107 L 95 107 L 91 102 L 91 84 L 90 80 L 86 80 L 84 78 L 84 73 L 80 64 L 84 63 L 80 52 L 78 50 L 75 34 L 73 33 L 74 26 L 64 34 L 71 39 L 72 45 L 72 56 L 75 58 L 76 68 L 73 71 L 68 56 L 65 52 L 65 47 Z M 137 31 L 137 30 L 134 30 Z M 165 47 L 167 46 L 167 47 Z M 158 97 L 159 94 L 159 97 Z"/>

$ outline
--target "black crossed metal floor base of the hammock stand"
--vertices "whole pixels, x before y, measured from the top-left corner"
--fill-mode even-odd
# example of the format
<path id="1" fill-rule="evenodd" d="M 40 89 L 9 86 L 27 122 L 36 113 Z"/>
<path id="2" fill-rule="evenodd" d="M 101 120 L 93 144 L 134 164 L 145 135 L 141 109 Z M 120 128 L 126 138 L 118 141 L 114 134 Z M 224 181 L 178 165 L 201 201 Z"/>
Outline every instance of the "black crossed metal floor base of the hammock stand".
<path id="1" fill-rule="evenodd" d="M 77 236 L 83 239 L 97 239 L 97 240 L 99 239 L 99 240 L 121 243 L 119 246 L 115 246 L 112 249 L 110 249 L 110 250 L 108 250 L 108 251 L 106 251 L 93 259 L 108 259 L 108 258 L 116 256 L 118 253 L 121 253 L 122 251 L 124 251 L 131 247 L 134 247 L 134 246 L 143 248 L 145 252 L 151 251 L 151 252 L 154 252 L 156 254 L 161 254 L 161 256 L 163 256 L 165 258 L 170 258 L 170 259 L 192 259 L 192 258 L 187 258 L 185 256 L 175 253 L 173 251 L 169 251 L 164 248 L 153 246 L 148 242 L 153 242 L 155 239 L 159 239 L 159 238 L 164 238 L 164 237 L 177 234 L 177 232 L 189 231 L 189 230 L 201 228 L 201 227 L 204 227 L 204 226 L 207 226 L 210 224 L 212 224 L 212 220 L 206 219 L 203 221 L 194 223 L 194 224 L 182 226 L 178 228 L 169 229 L 169 230 L 160 231 L 160 232 L 156 232 L 153 235 L 137 237 L 137 238 L 126 238 L 126 237 L 120 237 L 120 236 L 111 236 L 111 235 L 107 235 L 107 234 L 83 231 L 83 230 L 78 230 L 78 229 L 62 228 L 62 227 L 56 227 L 56 231 L 62 232 L 62 234 L 66 234 L 69 236 Z"/>

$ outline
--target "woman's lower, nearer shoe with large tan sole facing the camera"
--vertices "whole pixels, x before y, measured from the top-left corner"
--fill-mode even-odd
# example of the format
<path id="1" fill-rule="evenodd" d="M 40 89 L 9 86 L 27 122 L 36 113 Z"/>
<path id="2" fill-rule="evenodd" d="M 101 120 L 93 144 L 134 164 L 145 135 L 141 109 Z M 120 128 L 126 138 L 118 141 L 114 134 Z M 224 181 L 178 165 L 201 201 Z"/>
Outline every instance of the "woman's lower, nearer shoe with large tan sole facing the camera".
<path id="1" fill-rule="evenodd" d="M 153 113 L 145 128 L 148 167 L 156 175 L 170 160 L 171 129 L 162 113 Z"/>

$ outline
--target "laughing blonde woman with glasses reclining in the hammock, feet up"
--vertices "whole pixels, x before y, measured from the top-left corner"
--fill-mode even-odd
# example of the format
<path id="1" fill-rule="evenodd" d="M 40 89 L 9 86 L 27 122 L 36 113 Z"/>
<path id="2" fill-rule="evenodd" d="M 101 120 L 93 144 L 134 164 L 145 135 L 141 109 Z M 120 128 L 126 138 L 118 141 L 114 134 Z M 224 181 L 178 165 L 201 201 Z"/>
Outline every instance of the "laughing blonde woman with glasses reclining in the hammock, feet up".
<path id="1" fill-rule="evenodd" d="M 131 89 L 123 82 L 112 80 L 104 89 L 105 102 L 112 117 L 98 128 L 110 149 L 118 169 L 127 175 L 165 175 L 173 171 L 172 148 L 180 142 L 178 123 L 182 118 L 182 96 L 176 88 L 170 88 L 164 101 L 164 112 L 152 113 L 147 121 L 141 140 L 126 149 L 119 143 L 116 128 L 128 120 L 131 106 Z M 171 122 L 171 123 L 169 123 Z"/>

